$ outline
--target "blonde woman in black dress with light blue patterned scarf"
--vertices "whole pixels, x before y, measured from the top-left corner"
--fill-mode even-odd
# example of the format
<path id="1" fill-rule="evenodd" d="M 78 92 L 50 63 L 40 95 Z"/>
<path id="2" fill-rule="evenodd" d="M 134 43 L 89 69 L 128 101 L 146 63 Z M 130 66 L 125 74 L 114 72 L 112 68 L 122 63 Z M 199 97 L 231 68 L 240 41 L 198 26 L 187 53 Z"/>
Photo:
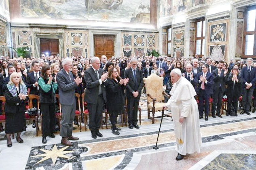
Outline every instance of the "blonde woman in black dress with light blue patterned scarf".
<path id="1" fill-rule="evenodd" d="M 9 83 L 4 87 L 6 103 L 5 133 L 7 146 L 12 147 L 11 134 L 17 133 L 16 140 L 23 143 L 21 132 L 26 130 L 25 102 L 28 101 L 27 87 L 19 73 L 12 73 Z"/>

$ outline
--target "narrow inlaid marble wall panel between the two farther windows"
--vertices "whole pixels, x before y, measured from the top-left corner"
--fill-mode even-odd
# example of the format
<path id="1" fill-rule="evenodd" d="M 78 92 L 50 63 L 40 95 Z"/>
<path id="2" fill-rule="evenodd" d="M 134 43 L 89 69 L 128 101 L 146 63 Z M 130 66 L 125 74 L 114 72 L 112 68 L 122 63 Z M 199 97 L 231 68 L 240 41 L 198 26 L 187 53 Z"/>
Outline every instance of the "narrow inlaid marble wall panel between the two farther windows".
<path id="1" fill-rule="evenodd" d="M 185 26 L 182 28 L 173 28 L 171 36 L 171 56 L 181 58 L 184 56 L 184 37 Z"/>

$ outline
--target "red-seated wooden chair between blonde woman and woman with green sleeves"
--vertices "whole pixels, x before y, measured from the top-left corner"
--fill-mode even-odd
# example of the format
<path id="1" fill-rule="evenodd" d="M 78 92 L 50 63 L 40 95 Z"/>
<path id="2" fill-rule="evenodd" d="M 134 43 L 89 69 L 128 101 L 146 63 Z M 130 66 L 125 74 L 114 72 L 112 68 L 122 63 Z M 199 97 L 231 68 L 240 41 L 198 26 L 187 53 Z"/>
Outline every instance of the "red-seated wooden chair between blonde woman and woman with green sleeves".
<path id="1" fill-rule="evenodd" d="M 28 104 L 28 108 L 33 108 L 33 103 L 32 100 L 36 99 L 37 100 L 37 108 L 40 108 L 40 97 L 38 95 L 34 95 L 34 94 L 29 94 L 28 95 L 28 100 L 29 100 L 29 104 Z M 35 124 L 36 124 L 36 136 L 38 136 L 38 131 L 39 131 L 39 126 L 38 126 L 38 118 L 40 117 L 40 115 L 37 116 L 29 116 L 28 113 L 25 113 L 25 118 L 26 120 L 35 120 Z"/>

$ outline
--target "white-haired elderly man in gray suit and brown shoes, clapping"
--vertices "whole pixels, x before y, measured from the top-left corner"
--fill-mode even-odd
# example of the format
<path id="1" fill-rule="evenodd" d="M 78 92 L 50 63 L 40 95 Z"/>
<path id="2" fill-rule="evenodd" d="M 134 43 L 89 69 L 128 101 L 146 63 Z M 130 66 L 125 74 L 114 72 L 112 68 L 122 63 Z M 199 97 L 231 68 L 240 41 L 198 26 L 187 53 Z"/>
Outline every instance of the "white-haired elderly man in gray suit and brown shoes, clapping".
<path id="1" fill-rule="evenodd" d="M 79 79 L 79 77 L 76 77 L 76 79 L 72 79 L 73 75 L 70 72 L 70 68 L 72 68 L 71 58 L 65 58 L 62 64 L 63 68 L 57 74 L 59 102 L 62 109 L 59 135 L 62 137 L 62 145 L 73 146 L 74 144 L 69 140 L 76 141 L 79 139 L 78 137 L 72 136 L 73 120 L 76 110 L 75 87 L 82 82 L 82 78 Z"/>

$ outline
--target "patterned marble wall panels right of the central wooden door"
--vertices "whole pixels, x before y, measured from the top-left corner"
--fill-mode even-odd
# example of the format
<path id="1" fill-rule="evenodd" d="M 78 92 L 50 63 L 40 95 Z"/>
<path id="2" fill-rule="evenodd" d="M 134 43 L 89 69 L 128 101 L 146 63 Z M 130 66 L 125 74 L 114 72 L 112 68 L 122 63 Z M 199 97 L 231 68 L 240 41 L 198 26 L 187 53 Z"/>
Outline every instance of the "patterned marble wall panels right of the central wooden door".
<path id="1" fill-rule="evenodd" d="M 157 51 L 157 33 L 121 33 L 121 56 L 148 56 Z"/>

